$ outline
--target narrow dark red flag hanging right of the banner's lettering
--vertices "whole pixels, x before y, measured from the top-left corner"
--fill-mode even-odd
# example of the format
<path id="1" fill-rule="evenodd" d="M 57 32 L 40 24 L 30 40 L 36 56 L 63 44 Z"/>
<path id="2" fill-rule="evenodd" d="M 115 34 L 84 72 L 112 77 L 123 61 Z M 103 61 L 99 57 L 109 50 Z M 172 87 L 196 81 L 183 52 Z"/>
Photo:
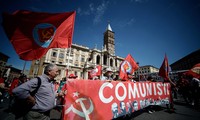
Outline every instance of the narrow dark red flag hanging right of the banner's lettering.
<path id="1" fill-rule="evenodd" d="M 163 77 L 165 80 L 169 79 L 169 64 L 168 64 L 168 59 L 167 59 L 166 54 L 165 54 L 164 61 L 159 69 L 158 75 Z"/>

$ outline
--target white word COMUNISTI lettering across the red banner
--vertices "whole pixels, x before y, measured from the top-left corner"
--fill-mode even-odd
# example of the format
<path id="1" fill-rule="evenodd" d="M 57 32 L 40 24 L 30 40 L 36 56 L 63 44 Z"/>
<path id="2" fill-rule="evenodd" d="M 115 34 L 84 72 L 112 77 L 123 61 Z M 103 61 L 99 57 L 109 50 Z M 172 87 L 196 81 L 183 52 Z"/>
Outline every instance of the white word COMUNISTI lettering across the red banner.
<path id="1" fill-rule="evenodd" d="M 137 86 L 138 84 L 138 86 Z M 110 90 L 114 89 L 114 95 L 111 95 L 106 98 L 104 96 L 104 89 L 106 87 L 109 87 Z M 123 89 L 123 95 L 119 95 L 119 89 L 120 87 Z M 138 88 L 139 87 L 139 88 Z M 112 83 L 103 83 L 103 85 L 99 89 L 99 98 L 103 103 L 110 103 L 114 99 L 114 97 L 117 98 L 119 101 L 124 101 L 126 97 L 128 96 L 128 99 L 135 99 L 135 98 L 140 98 L 140 97 L 146 97 L 146 96 L 151 96 L 151 95 L 169 95 L 169 84 L 162 84 L 162 83 L 127 83 L 127 86 L 125 86 L 124 83 L 119 82 L 117 85 L 114 87 Z M 121 91 L 120 91 L 121 92 Z M 128 94 L 128 95 L 127 95 Z M 114 96 L 114 97 L 113 97 Z"/>

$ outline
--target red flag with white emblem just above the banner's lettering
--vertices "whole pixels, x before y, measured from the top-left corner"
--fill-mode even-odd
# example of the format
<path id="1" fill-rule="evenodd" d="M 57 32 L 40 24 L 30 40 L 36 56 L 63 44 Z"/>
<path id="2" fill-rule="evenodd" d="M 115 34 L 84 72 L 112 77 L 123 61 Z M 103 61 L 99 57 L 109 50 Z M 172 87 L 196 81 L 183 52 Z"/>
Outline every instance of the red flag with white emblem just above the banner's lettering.
<path id="1" fill-rule="evenodd" d="M 128 56 L 120 65 L 119 77 L 122 80 L 128 80 L 127 74 L 133 74 L 133 72 L 137 69 L 138 64 L 135 62 L 134 58 L 128 54 Z"/>

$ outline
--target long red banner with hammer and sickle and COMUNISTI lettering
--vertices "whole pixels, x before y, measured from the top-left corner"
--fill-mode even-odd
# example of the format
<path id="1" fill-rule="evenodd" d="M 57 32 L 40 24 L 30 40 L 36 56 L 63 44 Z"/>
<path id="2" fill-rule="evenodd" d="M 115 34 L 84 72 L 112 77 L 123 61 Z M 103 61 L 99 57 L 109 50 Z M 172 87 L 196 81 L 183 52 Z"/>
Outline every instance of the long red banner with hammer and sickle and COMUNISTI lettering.
<path id="1" fill-rule="evenodd" d="M 69 80 L 64 120 L 108 120 L 149 105 L 169 104 L 170 84 Z"/>

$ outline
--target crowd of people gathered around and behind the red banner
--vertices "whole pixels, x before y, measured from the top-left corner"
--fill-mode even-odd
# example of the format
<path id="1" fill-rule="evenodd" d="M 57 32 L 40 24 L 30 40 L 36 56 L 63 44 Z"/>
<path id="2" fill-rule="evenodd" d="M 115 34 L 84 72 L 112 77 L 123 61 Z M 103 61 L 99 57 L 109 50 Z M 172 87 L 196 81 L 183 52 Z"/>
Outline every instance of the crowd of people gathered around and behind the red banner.
<path id="1" fill-rule="evenodd" d="M 55 108 L 58 104 L 64 104 L 63 97 L 67 92 L 66 77 L 71 79 L 76 79 L 78 77 L 74 74 L 70 74 L 57 82 L 54 78 L 59 74 L 58 71 L 58 67 L 55 64 L 48 64 L 44 69 L 44 74 L 39 76 L 39 78 L 28 80 L 26 75 L 21 75 L 19 78 L 14 78 L 12 82 L 8 83 L 7 78 L 1 77 L 1 102 L 9 97 L 9 109 L 11 111 L 13 109 L 13 100 L 23 99 L 31 106 L 31 108 L 23 116 L 16 116 L 16 118 L 23 117 L 24 120 L 36 118 L 49 120 L 50 110 Z M 129 73 L 127 73 L 127 76 L 129 82 L 156 82 L 151 76 L 141 81 L 135 80 L 134 76 Z M 39 82 L 38 79 L 40 79 L 41 82 Z M 95 76 L 95 79 L 92 80 L 111 82 L 116 79 L 117 78 L 112 78 L 112 70 L 107 68 L 103 76 Z M 171 83 L 174 98 L 177 98 L 177 94 L 180 94 L 187 104 L 194 106 L 194 108 L 199 108 L 200 81 L 198 78 L 180 74 L 177 81 L 169 79 L 168 82 Z M 170 108 L 172 110 L 174 109 L 173 102 L 170 105 Z M 62 107 L 58 108 L 58 110 L 62 111 Z M 144 110 L 150 114 L 155 112 L 154 106 L 151 105 L 144 108 Z"/>

